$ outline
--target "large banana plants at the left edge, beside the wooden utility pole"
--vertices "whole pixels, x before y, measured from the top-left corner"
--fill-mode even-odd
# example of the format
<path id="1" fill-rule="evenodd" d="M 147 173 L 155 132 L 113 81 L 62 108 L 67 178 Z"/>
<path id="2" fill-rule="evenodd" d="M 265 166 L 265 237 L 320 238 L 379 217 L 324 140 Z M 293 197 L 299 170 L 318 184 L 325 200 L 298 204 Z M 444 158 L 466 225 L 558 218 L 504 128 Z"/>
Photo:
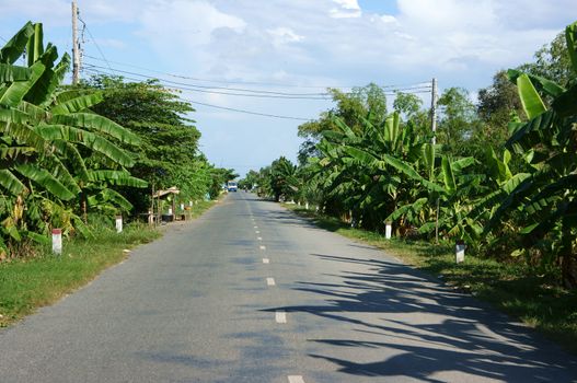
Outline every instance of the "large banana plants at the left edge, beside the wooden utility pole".
<path id="1" fill-rule="evenodd" d="M 24 51 L 28 67 L 14 66 Z M 85 211 L 86 192 L 145 185 L 129 176 L 134 159 L 120 147 L 138 144 L 138 137 L 90 111 L 101 94 L 62 91 L 70 58 L 64 55 L 58 63 L 57 58 L 56 47 L 43 44 L 42 24 L 26 23 L 0 49 L 0 193 L 12 206 L 22 201 L 31 214 L 34 207 L 46 208 L 46 200 L 65 208 L 79 197 Z M 107 173 L 95 176 L 94 171 Z M 20 230 L 34 240 L 34 230 L 43 231 L 33 214 L 9 211 L 14 209 L 2 213 L 8 237 L 20 241 Z"/>

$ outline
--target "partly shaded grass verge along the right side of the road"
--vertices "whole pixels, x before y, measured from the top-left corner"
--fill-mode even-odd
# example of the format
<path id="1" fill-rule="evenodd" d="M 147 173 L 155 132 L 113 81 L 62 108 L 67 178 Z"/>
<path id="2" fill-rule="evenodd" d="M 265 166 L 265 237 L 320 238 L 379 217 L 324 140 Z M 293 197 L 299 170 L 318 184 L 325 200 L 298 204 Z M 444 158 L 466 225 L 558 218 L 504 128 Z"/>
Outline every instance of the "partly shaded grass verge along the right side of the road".
<path id="1" fill-rule="evenodd" d="M 577 353 L 577 292 L 567 291 L 538 276 L 521 263 L 503 263 L 468 255 L 461 265 L 454 263 L 454 249 L 447 244 L 385 240 L 384 235 L 351 229 L 339 220 L 286 205 L 323 229 L 380 247 L 404 263 L 469 291 L 496 309 L 557 341 Z"/>

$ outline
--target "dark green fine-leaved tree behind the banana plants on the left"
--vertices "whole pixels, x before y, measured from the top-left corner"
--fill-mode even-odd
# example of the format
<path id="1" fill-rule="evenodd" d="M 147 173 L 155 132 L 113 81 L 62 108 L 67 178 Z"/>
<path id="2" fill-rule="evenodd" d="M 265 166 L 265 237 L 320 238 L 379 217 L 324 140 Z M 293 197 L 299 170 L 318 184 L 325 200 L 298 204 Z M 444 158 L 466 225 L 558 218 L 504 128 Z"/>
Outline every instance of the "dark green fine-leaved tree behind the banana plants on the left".
<path id="1" fill-rule="evenodd" d="M 94 107 L 127 127 L 141 140 L 132 173 L 148 181 L 150 188 L 177 186 L 181 198 L 203 198 L 211 181 L 208 163 L 198 150 L 200 132 L 185 117 L 194 108 L 158 81 L 125 82 L 122 77 L 99 76 L 85 84 L 103 91 L 104 101 Z M 198 184 L 201 182 L 200 184 Z M 130 201 L 140 211 L 150 207 L 148 192 L 131 190 Z"/>

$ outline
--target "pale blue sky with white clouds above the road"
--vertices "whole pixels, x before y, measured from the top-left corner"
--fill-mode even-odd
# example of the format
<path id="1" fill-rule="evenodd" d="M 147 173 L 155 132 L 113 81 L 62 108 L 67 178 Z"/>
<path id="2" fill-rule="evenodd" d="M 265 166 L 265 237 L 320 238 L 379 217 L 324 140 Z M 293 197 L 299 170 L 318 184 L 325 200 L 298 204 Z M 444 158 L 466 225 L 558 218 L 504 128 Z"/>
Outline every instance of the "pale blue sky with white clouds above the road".
<path id="1" fill-rule="evenodd" d="M 326 86 L 414 84 L 436 77 L 441 90 L 462 86 L 474 96 L 497 70 L 530 60 L 575 18 L 569 12 L 575 0 L 78 1 L 88 26 L 83 76 L 112 68 L 228 88 L 186 91 L 182 97 L 301 118 L 315 118 L 331 102 L 217 92 L 319 93 Z M 0 0 L 0 37 L 9 38 L 27 20 L 39 21 L 46 40 L 60 51 L 71 49 L 70 1 Z M 429 102 L 426 95 L 424 101 Z M 203 134 L 201 150 L 216 165 L 244 174 L 279 155 L 296 159 L 299 120 L 195 108 L 191 117 Z"/>

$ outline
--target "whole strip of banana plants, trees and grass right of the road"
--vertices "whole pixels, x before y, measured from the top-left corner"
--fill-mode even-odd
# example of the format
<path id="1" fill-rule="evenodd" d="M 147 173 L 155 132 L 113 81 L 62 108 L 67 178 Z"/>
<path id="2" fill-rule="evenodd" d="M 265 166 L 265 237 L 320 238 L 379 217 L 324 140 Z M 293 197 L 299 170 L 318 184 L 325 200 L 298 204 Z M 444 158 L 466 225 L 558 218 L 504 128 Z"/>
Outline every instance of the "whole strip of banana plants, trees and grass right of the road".
<path id="1" fill-rule="evenodd" d="M 436 134 L 415 94 L 396 93 L 388 111 L 374 84 L 332 93 L 336 106 L 299 127 L 299 163 L 279 158 L 242 185 L 575 345 L 577 23 L 534 62 L 497 72 L 476 104 L 446 89 Z"/>

